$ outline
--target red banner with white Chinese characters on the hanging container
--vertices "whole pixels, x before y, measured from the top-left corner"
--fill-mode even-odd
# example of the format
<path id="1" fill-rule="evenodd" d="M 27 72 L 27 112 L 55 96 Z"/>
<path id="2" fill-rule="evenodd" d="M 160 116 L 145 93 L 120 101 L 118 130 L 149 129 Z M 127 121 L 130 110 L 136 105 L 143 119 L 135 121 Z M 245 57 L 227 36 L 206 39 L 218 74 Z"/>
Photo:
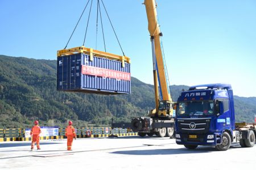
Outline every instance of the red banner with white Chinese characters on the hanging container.
<path id="1" fill-rule="evenodd" d="M 98 68 L 89 65 L 82 65 L 82 74 L 88 74 L 99 77 L 116 78 L 118 80 L 131 80 L 131 73 L 114 71 L 111 69 Z"/>

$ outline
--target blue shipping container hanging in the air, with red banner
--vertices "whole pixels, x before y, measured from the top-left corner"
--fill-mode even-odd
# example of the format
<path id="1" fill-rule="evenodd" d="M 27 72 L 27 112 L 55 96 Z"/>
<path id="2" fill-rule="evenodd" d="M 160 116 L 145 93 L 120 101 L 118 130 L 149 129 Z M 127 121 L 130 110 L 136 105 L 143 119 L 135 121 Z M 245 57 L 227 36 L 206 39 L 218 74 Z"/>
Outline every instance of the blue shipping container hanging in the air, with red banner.
<path id="1" fill-rule="evenodd" d="M 57 90 L 97 94 L 130 94 L 130 64 L 85 53 L 57 57 Z"/>

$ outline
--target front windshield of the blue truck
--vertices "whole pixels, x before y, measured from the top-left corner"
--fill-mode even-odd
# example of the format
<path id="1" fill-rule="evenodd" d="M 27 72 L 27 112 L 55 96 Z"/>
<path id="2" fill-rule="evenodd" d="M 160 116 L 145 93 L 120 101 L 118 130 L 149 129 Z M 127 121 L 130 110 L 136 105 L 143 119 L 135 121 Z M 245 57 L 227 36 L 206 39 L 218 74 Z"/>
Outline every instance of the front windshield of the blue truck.
<path id="1" fill-rule="evenodd" d="M 213 101 L 180 102 L 177 107 L 177 115 L 213 115 L 213 106 Z"/>

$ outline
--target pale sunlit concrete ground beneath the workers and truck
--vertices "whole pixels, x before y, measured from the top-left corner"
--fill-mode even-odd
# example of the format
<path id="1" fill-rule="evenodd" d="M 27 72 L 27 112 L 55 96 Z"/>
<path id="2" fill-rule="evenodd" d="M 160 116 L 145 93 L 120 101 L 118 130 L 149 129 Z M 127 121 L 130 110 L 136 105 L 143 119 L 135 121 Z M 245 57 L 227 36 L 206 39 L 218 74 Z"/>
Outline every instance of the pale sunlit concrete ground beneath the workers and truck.
<path id="1" fill-rule="evenodd" d="M 83 138 L 31 142 L 1 142 L 0 169 L 255 169 L 256 146 L 232 144 L 228 151 L 199 146 L 188 150 L 175 139 L 158 137 Z"/>

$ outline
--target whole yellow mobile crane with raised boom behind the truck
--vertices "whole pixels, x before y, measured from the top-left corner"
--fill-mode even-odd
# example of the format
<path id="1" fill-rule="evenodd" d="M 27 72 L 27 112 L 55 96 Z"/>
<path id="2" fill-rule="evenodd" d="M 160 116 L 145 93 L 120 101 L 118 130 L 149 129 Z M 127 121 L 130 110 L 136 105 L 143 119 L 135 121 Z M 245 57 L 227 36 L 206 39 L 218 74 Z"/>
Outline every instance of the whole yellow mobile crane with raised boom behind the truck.
<path id="1" fill-rule="evenodd" d="M 168 75 L 161 49 L 160 32 L 155 0 L 144 0 L 146 7 L 148 31 L 150 32 L 153 60 L 156 109 L 150 111 L 150 118 L 132 118 L 131 127 L 140 136 L 157 134 L 172 136 L 174 134 L 174 109 L 168 84 Z M 160 92 L 160 94 L 159 94 Z"/>

